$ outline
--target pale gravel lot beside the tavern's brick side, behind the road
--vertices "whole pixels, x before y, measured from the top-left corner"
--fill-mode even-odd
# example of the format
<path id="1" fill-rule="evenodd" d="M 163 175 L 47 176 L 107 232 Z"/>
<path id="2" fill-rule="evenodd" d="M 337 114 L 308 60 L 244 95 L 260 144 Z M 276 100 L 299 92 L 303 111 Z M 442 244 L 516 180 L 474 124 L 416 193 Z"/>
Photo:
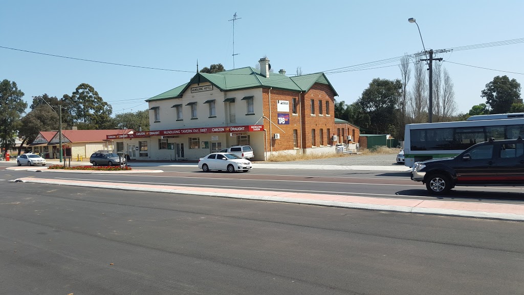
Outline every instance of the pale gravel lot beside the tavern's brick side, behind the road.
<path id="1" fill-rule="evenodd" d="M 346 155 L 343 157 L 332 157 L 326 159 L 314 159 L 290 162 L 257 162 L 257 164 L 308 164 L 308 165 L 364 165 L 364 166 L 403 166 L 397 164 L 396 154 L 387 155 Z"/>

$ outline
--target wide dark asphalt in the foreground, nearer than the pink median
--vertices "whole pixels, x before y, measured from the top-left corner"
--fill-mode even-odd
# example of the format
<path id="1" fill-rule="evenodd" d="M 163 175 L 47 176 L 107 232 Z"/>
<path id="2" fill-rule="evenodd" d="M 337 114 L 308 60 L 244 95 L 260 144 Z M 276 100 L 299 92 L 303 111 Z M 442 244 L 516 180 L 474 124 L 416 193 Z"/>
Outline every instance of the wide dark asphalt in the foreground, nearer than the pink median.
<path id="1" fill-rule="evenodd" d="M 1 294 L 524 293 L 524 223 L 7 181 L 0 192 Z"/>

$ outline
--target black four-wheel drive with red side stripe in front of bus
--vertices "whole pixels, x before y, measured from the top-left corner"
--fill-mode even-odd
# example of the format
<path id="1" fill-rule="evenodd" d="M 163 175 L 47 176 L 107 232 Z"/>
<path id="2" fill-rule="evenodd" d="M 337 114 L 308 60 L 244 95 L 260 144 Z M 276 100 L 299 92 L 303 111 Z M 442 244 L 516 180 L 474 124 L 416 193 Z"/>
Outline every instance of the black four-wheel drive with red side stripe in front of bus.
<path id="1" fill-rule="evenodd" d="M 490 139 L 449 159 L 416 162 L 411 179 L 425 183 L 433 194 L 456 185 L 524 185 L 524 141 Z"/>

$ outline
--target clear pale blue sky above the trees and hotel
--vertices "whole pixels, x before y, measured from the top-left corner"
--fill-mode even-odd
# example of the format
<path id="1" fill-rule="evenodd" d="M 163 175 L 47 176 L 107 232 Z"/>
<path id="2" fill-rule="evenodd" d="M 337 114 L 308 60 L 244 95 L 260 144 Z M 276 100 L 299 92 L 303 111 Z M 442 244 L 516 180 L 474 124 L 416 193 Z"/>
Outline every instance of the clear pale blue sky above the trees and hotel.
<path id="1" fill-rule="evenodd" d="M 57 58 L 0 48 L 0 79 L 15 81 L 29 103 L 62 97 L 89 83 L 113 113 L 147 108 L 145 99 L 188 82 L 196 70 L 221 63 L 255 67 L 267 56 L 275 71 L 327 71 L 426 49 L 524 38 L 523 1 L 8 1 L 0 9 L 0 46 L 152 70 Z M 524 43 L 451 51 L 439 57 L 467 112 L 498 75 L 524 82 Z M 459 64 L 484 67 L 485 70 Z M 328 75 L 352 103 L 373 78 L 400 78 L 398 62 Z M 390 66 L 390 67 L 385 67 Z M 190 72 L 184 72 L 190 71 Z M 193 72 L 191 72 L 193 71 Z M 502 71 L 518 72 L 507 73 Z"/>

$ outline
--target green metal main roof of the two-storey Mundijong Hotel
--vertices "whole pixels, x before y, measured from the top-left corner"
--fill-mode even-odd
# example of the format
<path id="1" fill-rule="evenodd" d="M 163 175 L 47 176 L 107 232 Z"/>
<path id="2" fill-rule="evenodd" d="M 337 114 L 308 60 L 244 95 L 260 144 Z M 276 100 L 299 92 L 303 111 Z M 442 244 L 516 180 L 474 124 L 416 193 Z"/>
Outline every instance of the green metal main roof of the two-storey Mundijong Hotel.
<path id="1" fill-rule="evenodd" d="M 146 101 L 180 98 L 189 86 L 210 82 L 220 91 L 233 91 L 246 88 L 274 88 L 288 91 L 308 91 L 314 83 L 329 85 L 335 96 L 339 96 L 324 73 L 314 73 L 297 77 L 288 77 L 280 73 L 269 73 L 269 78 L 260 75 L 260 71 L 252 67 L 227 70 L 217 73 L 197 73 L 188 83 L 180 85 L 164 93 L 151 97 Z"/>

